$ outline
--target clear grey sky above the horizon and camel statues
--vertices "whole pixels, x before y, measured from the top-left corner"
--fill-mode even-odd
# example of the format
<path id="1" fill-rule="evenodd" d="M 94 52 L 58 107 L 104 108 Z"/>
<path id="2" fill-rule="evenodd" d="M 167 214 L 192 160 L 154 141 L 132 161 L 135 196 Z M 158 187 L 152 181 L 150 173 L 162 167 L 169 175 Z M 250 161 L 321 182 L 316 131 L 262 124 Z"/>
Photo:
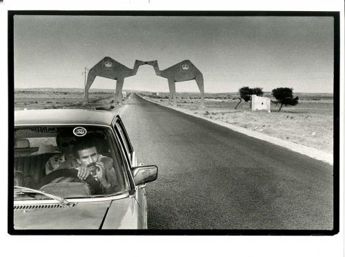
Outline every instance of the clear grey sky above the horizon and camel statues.
<path id="1" fill-rule="evenodd" d="M 333 17 L 14 17 L 14 88 L 84 88 L 84 67 L 103 57 L 161 70 L 190 59 L 206 93 L 242 86 L 333 93 Z M 91 88 L 113 88 L 97 77 Z M 124 91 L 168 92 L 152 66 L 127 77 Z M 177 92 L 198 92 L 178 82 Z"/>

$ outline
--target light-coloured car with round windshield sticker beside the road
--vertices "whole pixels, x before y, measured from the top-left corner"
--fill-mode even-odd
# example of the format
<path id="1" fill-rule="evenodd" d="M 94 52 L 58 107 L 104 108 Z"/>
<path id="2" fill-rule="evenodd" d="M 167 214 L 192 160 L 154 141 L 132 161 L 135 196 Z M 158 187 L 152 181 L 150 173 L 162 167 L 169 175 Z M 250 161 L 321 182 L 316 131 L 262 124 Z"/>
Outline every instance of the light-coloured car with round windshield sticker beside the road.
<path id="1" fill-rule="evenodd" d="M 64 162 L 59 158 L 63 153 L 57 144 L 61 131 L 72 135 L 73 148 L 77 142 L 95 142 L 97 161 L 108 165 L 107 172 L 113 172 L 116 186 L 108 182 L 101 190 L 99 167 L 95 168 L 96 175 L 90 172 L 79 179 L 82 159 L 71 162 L 75 166 L 62 167 Z M 52 160 L 60 166 L 48 173 Z M 64 161 L 67 163 L 67 158 Z M 158 168 L 138 164 L 116 111 L 14 111 L 13 166 L 14 171 L 10 167 L 9 172 L 14 172 L 14 231 L 148 228 L 145 187 L 157 179 Z M 106 173 L 105 178 L 110 180 L 110 175 Z M 106 191 L 108 188 L 111 191 Z"/>

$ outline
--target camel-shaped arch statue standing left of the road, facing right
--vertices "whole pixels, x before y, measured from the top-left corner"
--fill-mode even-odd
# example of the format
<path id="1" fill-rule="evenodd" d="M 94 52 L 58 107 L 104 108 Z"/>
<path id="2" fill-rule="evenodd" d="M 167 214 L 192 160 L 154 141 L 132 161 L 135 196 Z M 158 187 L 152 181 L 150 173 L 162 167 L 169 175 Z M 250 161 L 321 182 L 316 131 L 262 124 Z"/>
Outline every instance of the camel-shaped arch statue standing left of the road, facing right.
<path id="1" fill-rule="evenodd" d="M 122 102 L 122 87 L 124 86 L 125 77 L 134 76 L 137 70 L 144 61 L 135 60 L 134 67 L 128 68 L 123 64 L 110 57 L 104 57 L 98 64 L 90 68 L 88 72 L 88 80 L 85 86 L 84 102 L 88 103 L 88 90 L 94 82 L 96 76 L 106 77 L 108 79 L 116 79 L 115 89 L 115 103 L 121 104 Z"/>

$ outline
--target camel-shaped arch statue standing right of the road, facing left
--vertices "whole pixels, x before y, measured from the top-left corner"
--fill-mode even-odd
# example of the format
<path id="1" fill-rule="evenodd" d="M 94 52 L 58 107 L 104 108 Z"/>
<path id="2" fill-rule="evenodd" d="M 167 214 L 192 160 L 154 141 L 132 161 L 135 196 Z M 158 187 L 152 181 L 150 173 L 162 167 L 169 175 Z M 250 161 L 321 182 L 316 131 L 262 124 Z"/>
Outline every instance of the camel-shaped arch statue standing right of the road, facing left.
<path id="1" fill-rule="evenodd" d="M 155 61 L 142 61 L 141 64 L 148 64 L 153 66 L 155 69 L 155 73 L 157 76 L 165 77 L 168 79 L 169 84 L 169 105 L 171 104 L 171 99 L 174 99 L 174 106 L 177 106 L 176 101 L 176 88 L 175 82 L 186 82 L 188 80 L 195 79 L 197 82 L 197 86 L 199 87 L 199 91 L 201 93 L 201 108 L 205 108 L 204 106 L 204 77 L 200 70 L 192 64 L 189 60 L 184 60 L 175 64 L 165 70 L 159 70 L 158 62 Z"/>

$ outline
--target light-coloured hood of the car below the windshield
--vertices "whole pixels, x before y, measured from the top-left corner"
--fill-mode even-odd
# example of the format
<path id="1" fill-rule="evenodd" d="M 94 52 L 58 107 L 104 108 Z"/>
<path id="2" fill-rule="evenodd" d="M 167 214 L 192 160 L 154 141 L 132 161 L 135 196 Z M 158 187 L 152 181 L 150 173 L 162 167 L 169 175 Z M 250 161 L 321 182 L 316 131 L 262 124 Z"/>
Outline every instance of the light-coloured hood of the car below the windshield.
<path id="1" fill-rule="evenodd" d="M 108 210 L 112 213 L 111 219 L 106 218 Z M 136 228 L 135 214 L 133 198 L 76 202 L 70 207 L 14 204 L 14 229 L 101 229 L 103 223 L 106 229 Z"/>

